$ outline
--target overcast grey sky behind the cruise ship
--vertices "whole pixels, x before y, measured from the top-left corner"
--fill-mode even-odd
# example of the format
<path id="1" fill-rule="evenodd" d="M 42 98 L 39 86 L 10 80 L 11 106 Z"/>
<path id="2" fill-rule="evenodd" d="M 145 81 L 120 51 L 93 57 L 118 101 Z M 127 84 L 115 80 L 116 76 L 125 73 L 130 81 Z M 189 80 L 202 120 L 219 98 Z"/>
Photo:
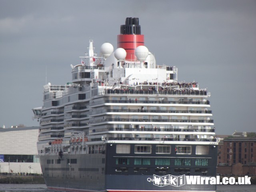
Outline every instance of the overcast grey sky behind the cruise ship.
<path id="1" fill-rule="evenodd" d="M 211 93 L 216 134 L 256 132 L 255 0 L 0 0 L 0 127 L 39 126 L 46 82 L 71 82 L 70 64 L 138 17 L 156 64 Z"/>

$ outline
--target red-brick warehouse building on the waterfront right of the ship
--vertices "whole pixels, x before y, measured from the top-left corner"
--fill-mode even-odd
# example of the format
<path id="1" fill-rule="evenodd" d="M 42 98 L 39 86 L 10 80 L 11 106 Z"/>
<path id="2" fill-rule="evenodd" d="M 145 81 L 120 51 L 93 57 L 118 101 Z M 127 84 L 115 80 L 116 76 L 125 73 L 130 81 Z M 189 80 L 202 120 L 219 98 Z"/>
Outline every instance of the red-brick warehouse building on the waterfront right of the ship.
<path id="1" fill-rule="evenodd" d="M 256 134 L 234 132 L 219 142 L 219 174 L 256 174 Z"/>

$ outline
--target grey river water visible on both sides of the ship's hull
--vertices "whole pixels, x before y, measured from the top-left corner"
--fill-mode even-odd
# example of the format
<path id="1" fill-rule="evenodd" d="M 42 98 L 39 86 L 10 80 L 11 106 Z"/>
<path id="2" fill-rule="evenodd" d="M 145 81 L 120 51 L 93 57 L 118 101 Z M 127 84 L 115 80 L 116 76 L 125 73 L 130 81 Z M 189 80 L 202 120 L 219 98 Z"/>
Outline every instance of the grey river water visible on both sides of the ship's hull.
<path id="1" fill-rule="evenodd" d="M 0 192 L 52 192 L 45 184 L 0 184 Z M 256 185 L 219 185 L 217 192 L 256 192 Z"/>

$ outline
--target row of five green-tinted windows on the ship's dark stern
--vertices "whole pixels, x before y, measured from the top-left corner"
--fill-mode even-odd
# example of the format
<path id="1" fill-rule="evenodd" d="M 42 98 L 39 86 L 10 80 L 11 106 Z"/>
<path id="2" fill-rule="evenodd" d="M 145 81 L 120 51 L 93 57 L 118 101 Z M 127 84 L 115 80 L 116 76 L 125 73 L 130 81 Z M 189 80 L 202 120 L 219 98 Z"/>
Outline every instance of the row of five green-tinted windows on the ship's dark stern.
<path id="1" fill-rule="evenodd" d="M 130 165 L 132 162 L 130 158 L 116 158 L 116 165 Z M 195 166 L 208 166 L 209 159 L 196 159 Z M 134 158 L 134 165 L 150 165 L 151 158 Z M 170 166 L 170 158 L 155 158 L 155 165 Z M 176 158 L 174 159 L 175 166 L 191 166 L 191 159 L 189 158 Z"/>

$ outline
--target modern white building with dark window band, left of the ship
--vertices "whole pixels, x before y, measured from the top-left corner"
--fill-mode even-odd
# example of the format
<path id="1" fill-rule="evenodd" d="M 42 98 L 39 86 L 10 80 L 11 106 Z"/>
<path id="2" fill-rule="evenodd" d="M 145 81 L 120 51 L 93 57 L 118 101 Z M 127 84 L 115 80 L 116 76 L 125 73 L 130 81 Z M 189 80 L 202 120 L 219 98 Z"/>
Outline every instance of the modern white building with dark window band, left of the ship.
<path id="1" fill-rule="evenodd" d="M 41 174 L 37 127 L 0 128 L 0 173 Z"/>

